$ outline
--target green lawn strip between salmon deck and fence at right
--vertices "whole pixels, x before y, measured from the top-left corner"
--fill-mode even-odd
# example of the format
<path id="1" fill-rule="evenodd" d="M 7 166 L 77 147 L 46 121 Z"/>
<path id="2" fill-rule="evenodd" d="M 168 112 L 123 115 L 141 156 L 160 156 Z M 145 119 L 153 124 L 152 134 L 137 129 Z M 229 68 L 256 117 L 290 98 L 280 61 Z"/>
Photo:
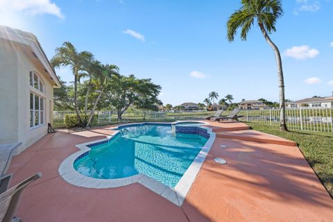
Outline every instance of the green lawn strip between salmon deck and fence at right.
<path id="1" fill-rule="evenodd" d="M 333 198 L 333 133 L 291 130 L 282 132 L 274 126 L 259 123 L 246 123 L 264 133 L 269 133 L 296 142 L 316 172 L 327 191 Z"/>

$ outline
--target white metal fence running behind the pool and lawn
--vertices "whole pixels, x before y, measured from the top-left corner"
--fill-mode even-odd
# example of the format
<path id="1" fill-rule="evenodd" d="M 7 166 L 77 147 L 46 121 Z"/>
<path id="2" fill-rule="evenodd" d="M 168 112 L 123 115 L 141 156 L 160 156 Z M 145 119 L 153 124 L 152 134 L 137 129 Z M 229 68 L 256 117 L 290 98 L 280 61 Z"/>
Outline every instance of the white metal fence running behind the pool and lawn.
<path id="1" fill-rule="evenodd" d="M 228 115 L 232 111 L 223 111 L 223 115 Z M 65 116 L 76 114 L 75 111 L 54 111 L 54 128 L 65 128 Z M 125 112 L 123 122 L 137 121 L 176 121 L 186 119 L 203 119 L 214 112 L 199 111 L 176 111 L 176 112 Z M 108 125 L 119 123 L 117 112 L 96 111 L 96 124 Z M 280 125 L 280 110 L 240 110 L 238 115 L 240 121 L 262 123 L 269 126 Z M 308 108 L 308 109 L 287 109 L 287 126 L 291 130 L 311 130 L 318 132 L 333 132 L 333 109 L 332 108 Z"/>

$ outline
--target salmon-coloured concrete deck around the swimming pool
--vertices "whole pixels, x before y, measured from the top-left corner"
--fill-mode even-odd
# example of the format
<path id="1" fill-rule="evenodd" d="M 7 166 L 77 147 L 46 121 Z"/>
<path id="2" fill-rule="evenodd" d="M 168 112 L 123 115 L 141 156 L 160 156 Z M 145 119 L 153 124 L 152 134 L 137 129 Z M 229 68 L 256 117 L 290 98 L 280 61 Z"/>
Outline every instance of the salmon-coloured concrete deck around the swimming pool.
<path id="1" fill-rule="evenodd" d="M 75 145 L 103 139 L 114 133 L 112 127 L 46 135 L 12 157 L 12 185 L 43 174 L 24 191 L 17 216 L 24 221 L 332 221 L 333 200 L 294 143 L 244 123 L 210 122 L 210 127 L 216 139 L 182 207 L 137 183 L 89 189 L 61 178 L 58 167 L 78 151 Z M 216 164 L 215 157 L 228 164 Z"/>

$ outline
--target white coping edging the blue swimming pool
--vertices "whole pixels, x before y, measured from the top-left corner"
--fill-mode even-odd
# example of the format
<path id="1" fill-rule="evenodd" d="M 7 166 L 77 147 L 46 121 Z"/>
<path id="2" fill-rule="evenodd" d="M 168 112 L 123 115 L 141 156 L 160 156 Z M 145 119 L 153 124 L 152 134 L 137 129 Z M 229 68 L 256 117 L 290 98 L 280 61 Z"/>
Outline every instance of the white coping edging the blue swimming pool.
<path id="1" fill-rule="evenodd" d="M 182 121 L 176 121 L 173 123 L 179 123 L 179 122 Z M 183 122 L 189 122 L 189 121 L 183 121 Z M 200 122 L 200 121 L 195 121 L 195 122 Z M 144 122 L 144 123 L 160 123 L 160 122 Z M 126 123 L 121 125 L 121 127 L 138 125 L 138 124 L 143 125 L 144 123 Z M 167 123 L 167 124 L 173 124 L 173 123 Z M 115 127 L 114 130 L 117 130 L 118 127 Z M 143 173 L 139 173 L 135 176 L 130 176 L 127 178 L 98 179 L 98 178 L 89 178 L 87 176 L 84 176 L 83 174 L 78 173 L 76 169 L 74 169 L 74 161 L 76 160 L 76 158 L 82 155 L 83 153 L 86 153 L 87 151 L 91 150 L 91 148 L 88 147 L 89 144 L 96 144 L 98 142 L 107 141 L 112 137 L 114 137 L 114 135 L 117 135 L 117 133 L 119 133 L 119 130 L 112 133 L 112 135 L 107 136 L 105 139 L 99 139 L 92 142 L 76 145 L 76 147 L 78 147 L 80 151 L 77 151 L 76 153 L 69 155 L 69 157 L 67 157 L 60 164 L 58 172 L 65 181 L 69 182 L 71 185 L 78 187 L 107 189 L 113 187 L 123 187 L 138 182 L 144 187 L 151 189 L 151 191 L 154 191 L 156 194 L 159 194 L 160 196 L 171 201 L 171 203 L 181 206 L 182 203 L 184 203 L 185 197 L 189 189 L 191 188 L 191 185 L 193 184 L 194 180 L 196 179 L 196 176 L 200 171 L 200 168 L 203 165 L 203 162 L 205 161 L 207 154 L 210 152 L 210 148 L 212 147 L 212 144 L 214 143 L 216 137 L 215 133 L 212 131 L 212 128 L 205 127 L 203 125 L 192 126 L 192 127 L 206 129 L 207 133 L 210 134 L 210 138 L 207 140 L 203 148 L 201 148 L 201 151 L 198 153 L 196 158 L 194 158 L 194 161 L 191 163 L 191 165 L 189 165 L 189 168 L 187 169 L 187 171 L 185 171 L 184 175 L 182 176 L 182 178 L 180 178 L 176 187 L 174 188 L 168 187 L 167 185 L 164 185 L 162 182 L 159 182 L 151 177 L 148 177 Z"/>

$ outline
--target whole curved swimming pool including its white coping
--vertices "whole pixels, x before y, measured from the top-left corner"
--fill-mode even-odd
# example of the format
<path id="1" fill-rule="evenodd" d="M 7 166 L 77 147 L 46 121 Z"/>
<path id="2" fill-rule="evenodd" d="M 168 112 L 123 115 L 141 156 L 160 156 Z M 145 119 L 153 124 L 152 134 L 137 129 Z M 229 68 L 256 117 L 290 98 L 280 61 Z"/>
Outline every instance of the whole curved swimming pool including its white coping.
<path id="1" fill-rule="evenodd" d="M 109 128 L 106 139 L 77 144 L 80 150 L 62 161 L 59 175 L 91 189 L 139 183 L 181 206 L 216 137 L 212 128 L 182 122 Z"/>

